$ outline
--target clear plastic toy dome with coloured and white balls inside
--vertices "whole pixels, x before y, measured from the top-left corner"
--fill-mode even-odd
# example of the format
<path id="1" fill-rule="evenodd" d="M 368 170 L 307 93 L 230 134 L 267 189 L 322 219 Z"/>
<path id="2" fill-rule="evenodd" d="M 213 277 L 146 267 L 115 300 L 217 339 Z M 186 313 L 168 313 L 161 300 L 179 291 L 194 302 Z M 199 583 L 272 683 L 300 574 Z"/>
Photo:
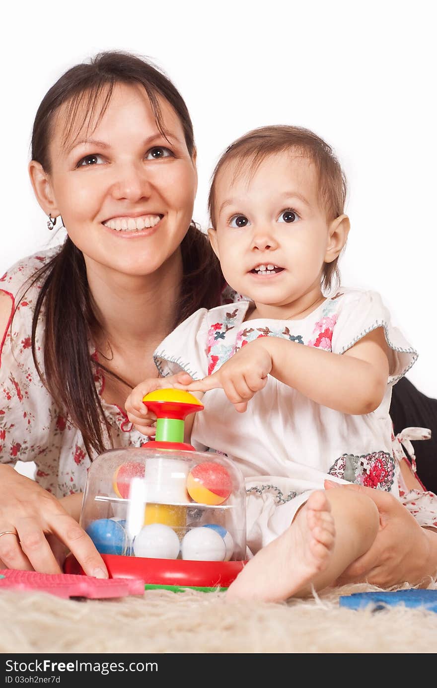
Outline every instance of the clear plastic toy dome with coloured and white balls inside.
<path id="1" fill-rule="evenodd" d="M 242 561 L 245 499 L 241 471 L 216 453 L 112 449 L 89 468 L 81 526 L 102 555 Z"/>

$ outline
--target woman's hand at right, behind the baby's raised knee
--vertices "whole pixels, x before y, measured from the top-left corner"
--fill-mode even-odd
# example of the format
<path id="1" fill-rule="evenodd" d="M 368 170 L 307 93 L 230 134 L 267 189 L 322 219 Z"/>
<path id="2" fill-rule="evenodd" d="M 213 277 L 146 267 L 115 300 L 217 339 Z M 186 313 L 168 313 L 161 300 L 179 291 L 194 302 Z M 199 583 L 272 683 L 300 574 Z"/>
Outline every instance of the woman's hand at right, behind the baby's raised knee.
<path id="1" fill-rule="evenodd" d="M 379 533 L 372 547 L 343 572 L 338 585 L 367 581 L 388 588 L 399 581 L 429 583 L 437 573 L 437 533 L 419 526 L 401 502 L 383 490 L 325 481 L 327 490 L 339 488 L 365 494 L 379 510 Z"/>

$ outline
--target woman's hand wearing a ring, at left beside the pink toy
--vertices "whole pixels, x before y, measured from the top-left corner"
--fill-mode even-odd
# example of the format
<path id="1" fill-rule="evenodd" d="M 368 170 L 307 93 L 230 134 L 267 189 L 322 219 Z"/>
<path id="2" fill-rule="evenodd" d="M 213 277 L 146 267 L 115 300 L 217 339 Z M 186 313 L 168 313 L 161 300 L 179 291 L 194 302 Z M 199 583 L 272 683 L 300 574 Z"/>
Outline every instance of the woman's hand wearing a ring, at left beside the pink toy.
<path id="1" fill-rule="evenodd" d="M 1 465 L 0 533 L 9 530 L 12 532 L 0 535 L 3 568 L 62 573 L 57 559 L 66 547 L 87 575 L 107 578 L 105 563 L 92 539 L 58 499 L 12 466 Z"/>

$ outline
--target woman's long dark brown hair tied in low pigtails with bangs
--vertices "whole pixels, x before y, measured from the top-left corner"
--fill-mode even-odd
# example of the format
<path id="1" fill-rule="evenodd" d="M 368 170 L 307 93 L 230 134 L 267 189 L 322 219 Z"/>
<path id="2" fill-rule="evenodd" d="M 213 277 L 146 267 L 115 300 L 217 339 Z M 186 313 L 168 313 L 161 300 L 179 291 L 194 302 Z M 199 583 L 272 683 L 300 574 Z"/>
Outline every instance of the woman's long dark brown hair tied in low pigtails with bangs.
<path id="1" fill-rule="evenodd" d="M 169 78 L 142 58 L 105 52 L 89 64 L 69 69 L 47 92 L 34 121 L 32 160 L 40 162 L 43 169 L 50 172 L 48 147 L 58 108 L 64 103 L 67 105 L 67 138 L 73 128 L 89 127 L 95 121 L 96 107 L 100 107 L 97 118 L 100 120 L 116 83 L 138 83 L 145 88 L 158 129 L 163 134 L 157 96 L 165 98 L 180 118 L 186 146 L 193 155 L 191 118 L 182 96 Z M 78 122 L 79 113 L 84 110 L 85 120 Z M 224 286 L 220 264 L 209 240 L 194 222 L 182 240 L 181 252 L 183 276 L 174 325 L 198 308 L 217 305 Z M 100 325 L 92 307 L 83 254 L 70 237 L 61 250 L 32 275 L 28 288 L 36 282 L 41 284 L 32 321 L 32 354 L 36 369 L 61 412 L 81 431 L 88 454 L 91 455 L 92 450 L 102 453 L 109 449 L 111 441 L 94 381 L 96 367 L 89 348 L 92 332 L 98 331 Z M 36 327 L 41 318 L 45 324 L 43 371 L 36 357 Z M 99 367 L 109 372 L 100 363 Z"/>

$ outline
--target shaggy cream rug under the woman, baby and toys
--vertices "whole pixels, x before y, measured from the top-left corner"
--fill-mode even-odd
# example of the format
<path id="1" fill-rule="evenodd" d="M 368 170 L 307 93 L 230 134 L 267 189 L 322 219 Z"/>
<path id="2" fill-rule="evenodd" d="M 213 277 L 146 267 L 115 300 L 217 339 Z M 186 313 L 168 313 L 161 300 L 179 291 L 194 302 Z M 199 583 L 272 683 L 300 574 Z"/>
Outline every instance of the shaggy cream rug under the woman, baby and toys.
<path id="1" fill-rule="evenodd" d="M 429 587 L 437 588 L 437 583 Z M 149 590 L 142 597 L 74 601 L 0 593 L 2 653 L 434 653 L 437 613 L 404 606 L 339 607 L 347 585 L 287 603 L 230 603 L 223 593 Z"/>

